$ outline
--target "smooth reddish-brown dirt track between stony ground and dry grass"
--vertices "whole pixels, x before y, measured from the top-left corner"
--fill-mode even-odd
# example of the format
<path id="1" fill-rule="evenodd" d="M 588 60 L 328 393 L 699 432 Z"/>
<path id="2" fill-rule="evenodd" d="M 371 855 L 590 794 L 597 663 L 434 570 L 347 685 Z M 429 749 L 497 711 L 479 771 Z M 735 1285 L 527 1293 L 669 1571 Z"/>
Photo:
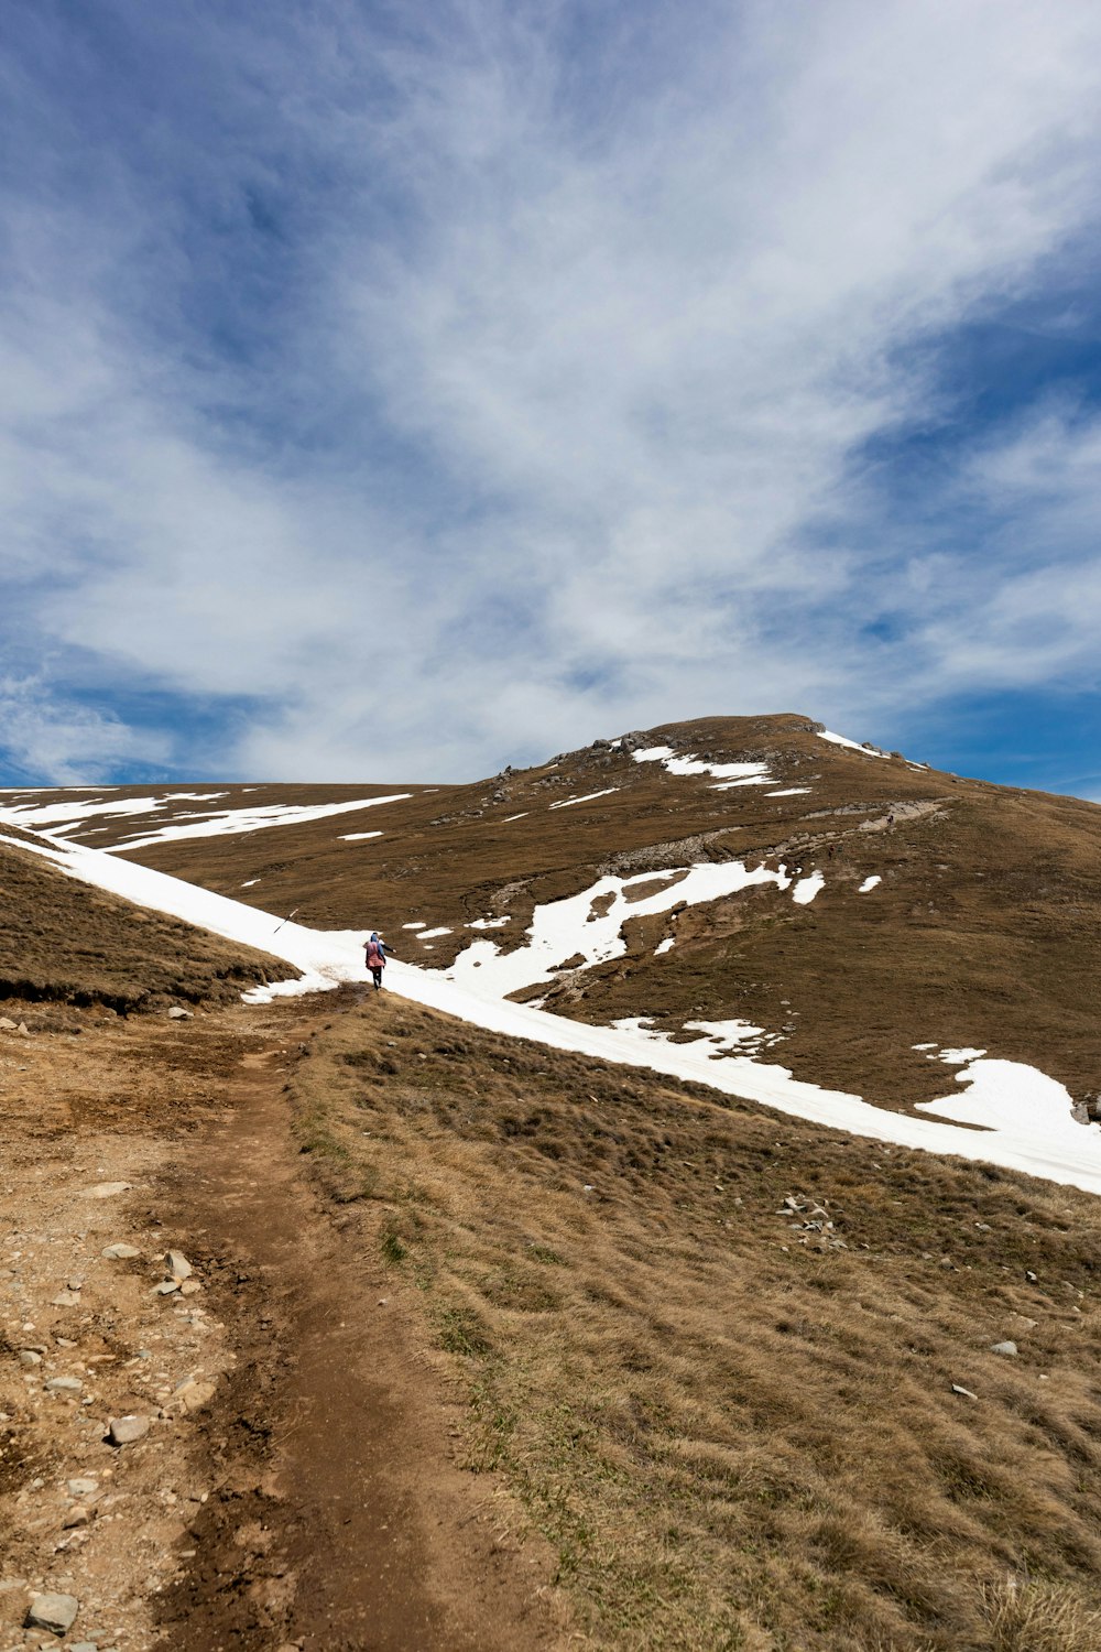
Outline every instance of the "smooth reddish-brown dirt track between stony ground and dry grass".
<path id="1" fill-rule="evenodd" d="M 282 1072 L 304 1024 L 284 1011 L 272 1031 L 173 1178 L 170 1221 L 221 1259 L 238 1365 L 205 1426 L 218 1495 L 163 1647 L 546 1647 L 545 1556 L 510 1548 L 492 1482 L 456 1467 L 439 1376 L 292 1142 Z"/>

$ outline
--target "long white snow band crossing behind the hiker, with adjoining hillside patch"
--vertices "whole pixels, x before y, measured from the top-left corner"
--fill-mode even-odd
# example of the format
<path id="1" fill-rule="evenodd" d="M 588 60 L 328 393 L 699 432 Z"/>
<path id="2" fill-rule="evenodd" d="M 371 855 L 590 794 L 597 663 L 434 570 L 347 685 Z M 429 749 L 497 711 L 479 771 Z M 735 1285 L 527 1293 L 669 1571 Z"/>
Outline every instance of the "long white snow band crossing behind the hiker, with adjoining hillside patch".
<path id="1" fill-rule="evenodd" d="M 286 922 L 279 914 L 259 912 L 239 900 L 81 844 L 28 844 L 12 838 L 0 838 L 0 843 L 40 854 L 71 877 L 109 889 L 137 905 L 167 912 L 228 940 L 258 947 L 302 970 L 302 980 L 254 988 L 244 995 L 246 1001 L 259 1003 L 274 996 L 320 991 L 343 981 L 365 980 L 361 930 L 312 930 Z M 540 909 L 553 912 L 553 917 L 536 915 L 538 922 L 532 928 L 528 947 L 522 948 L 522 953 L 528 953 L 525 968 L 545 970 L 548 955 L 561 952 L 566 945 L 571 945 L 571 953 L 566 957 L 583 952 L 584 957 L 596 958 L 612 945 L 609 933 L 612 914 L 622 922 L 624 915 L 640 914 L 649 902 L 665 900 L 673 892 L 677 900 L 687 899 L 687 889 L 692 889 L 698 900 L 716 899 L 713 890 L 720 889 L 720 879 L 733 884 L 725 890 L 733 894 L 753 882 L 781 884 L 781 877 L 786 876 L 769 874 L 763 867 L 756 874 L 746 874 L 744 867 L 735 872 L 736 864 L 692 867 L 665 890 L 637 902 L 627 902 L 624 895 L 624 889 L 629 889 L 634 879 L 601 879 L 594 889 L 612 897 L 609 914 L 602 917 L 599 912 L 593 915 L 593 890 L 571 902 L 553 902 Z M 693 874 L 698 874 L 695 884 L 690 882 Z M 740 876 L 741 884 L 736 881 Z M 670 874 L 672 877 L 675 874 Z M 604 884 L 611 887 L 602 887 Z M 672 900 L 669 904 L 672 905 Z M 654 910 L 667 909 L 660 904 L 654 907 Z M 594 925 L 593 937 L 586 933 L 589 923 Z M 541 945 L 540 938 L 545 938 L 546 945 Z M 475 947 L 489 947 L 495 953 L 492 942 L 475 942 L 462 957 L 469 960 Z M 1066 1089 L 1023 1062 L 967 1061 L 956 1074 L 956 1082 L 961 1085 L 957 1094 L 923 1104 L 921 1117 L 895 1113 L 873 1107 L 858 1095 L 799 1080 L 786 1067 L 740 1054 L 740 1044 L 759 1044 L 759 1029 L 744 1028 L 741 1023 L 692 1024 L 688 1031 L 700 1031 L 702 1036 L 690 1044 L 673 1044 L 665 1034 L 639 1023 L 586 1026 L 497 996 L 502 988 L 510 990 L 507 960 L 497 966 L 499 980 L 494 991 L 489 991 L 490 976 L 484 973 L 487 966 L 494 968 L 494 957 L 487 955 L 479 970 L 470 963 L 459 968 L 459 961 L 452 971 L 439 971 L 393 960 L 386 970 L 386 983 L 411 1003 L 457 1016 L 492 1032 L 705 1084 L 716 1092 L 759 1102 L 777 1112 L 875 1142 L 982 1160 L 1005 1170 L 1047 1176 L 1088 1193 L 1101 1193 L 1101 1130 L 1078 1125 L 1071 1118 L 1071 1099 Z M 961 1054 L 971 1056 L 969 1051 L 952 1051 L 946 1052 L 944 1059 Z"/>

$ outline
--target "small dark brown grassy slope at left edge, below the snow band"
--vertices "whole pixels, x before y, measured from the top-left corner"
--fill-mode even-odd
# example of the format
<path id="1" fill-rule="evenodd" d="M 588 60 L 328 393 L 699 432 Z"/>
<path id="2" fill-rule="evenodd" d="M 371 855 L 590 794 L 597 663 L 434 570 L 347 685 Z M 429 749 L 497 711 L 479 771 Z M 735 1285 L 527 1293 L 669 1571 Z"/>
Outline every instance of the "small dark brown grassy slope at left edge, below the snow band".
<path id="1" fill-rule="evenodd" d="M 144 912 L 8 846 L 0 846 L 0 1003 L 129 1013 L 223 1003 L 269 973 L 294 975 L 276 958 Z"/>

